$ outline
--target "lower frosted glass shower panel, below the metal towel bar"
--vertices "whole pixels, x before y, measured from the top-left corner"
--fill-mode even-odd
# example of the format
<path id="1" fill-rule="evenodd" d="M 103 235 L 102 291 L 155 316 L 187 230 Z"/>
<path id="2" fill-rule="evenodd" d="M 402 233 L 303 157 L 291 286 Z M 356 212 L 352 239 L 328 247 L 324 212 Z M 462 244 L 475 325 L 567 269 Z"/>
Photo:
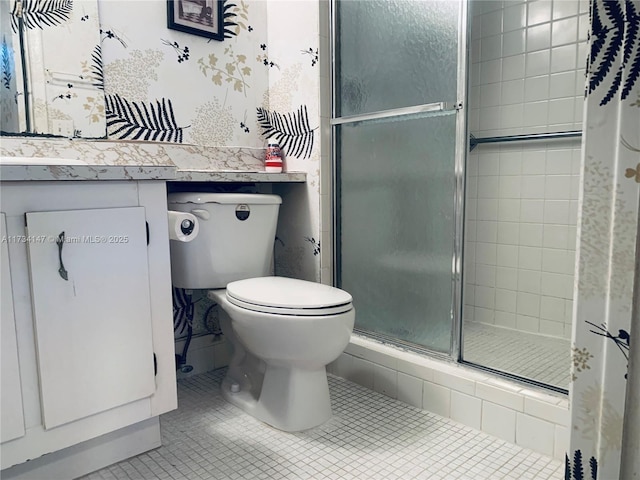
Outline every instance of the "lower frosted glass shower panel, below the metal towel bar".
<path id="1" fill-rule="evenodd" d="M 336 130 L 339 276 L 356 328 L 449 353 L 456 112 Z"/>

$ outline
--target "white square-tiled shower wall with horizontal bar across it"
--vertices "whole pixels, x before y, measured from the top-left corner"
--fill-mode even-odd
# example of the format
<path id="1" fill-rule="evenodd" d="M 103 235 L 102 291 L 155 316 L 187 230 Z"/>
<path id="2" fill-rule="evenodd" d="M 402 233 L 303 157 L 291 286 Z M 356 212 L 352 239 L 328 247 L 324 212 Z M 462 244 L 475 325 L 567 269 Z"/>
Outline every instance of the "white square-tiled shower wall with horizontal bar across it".
<path id="1" fill-rule="evenodd" d="M 480 1 L 470 15 L 470 133 L 581 130 L 588 2 Z M 579 172 L 579 139 L 470 153 L 466 320 L 570 337 Z"/>

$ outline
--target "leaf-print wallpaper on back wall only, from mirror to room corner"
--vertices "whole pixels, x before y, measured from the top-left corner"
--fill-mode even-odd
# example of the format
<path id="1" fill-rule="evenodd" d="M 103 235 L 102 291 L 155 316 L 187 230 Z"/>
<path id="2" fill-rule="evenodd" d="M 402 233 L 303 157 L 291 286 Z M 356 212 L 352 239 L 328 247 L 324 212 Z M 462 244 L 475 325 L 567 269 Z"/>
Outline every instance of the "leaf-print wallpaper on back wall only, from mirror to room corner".
<path id="1" fill-rule="evenodd" d="M 113 109 L 107 115 L 130 125 L 110 124 L 109 138 L 264 146 L 255 108 L 269 86 L 268 72 L 256 59 L 268 36 L 266 2 L 225 2 L 222 42 L 168 29 L 161 0 L 101 1 L 99 8 L 107 104 L 124 107 L 117 117 Z M 157 121 L 170 124 L 143 124 L 144 107 L 160 104 L 166 115 Z"/>

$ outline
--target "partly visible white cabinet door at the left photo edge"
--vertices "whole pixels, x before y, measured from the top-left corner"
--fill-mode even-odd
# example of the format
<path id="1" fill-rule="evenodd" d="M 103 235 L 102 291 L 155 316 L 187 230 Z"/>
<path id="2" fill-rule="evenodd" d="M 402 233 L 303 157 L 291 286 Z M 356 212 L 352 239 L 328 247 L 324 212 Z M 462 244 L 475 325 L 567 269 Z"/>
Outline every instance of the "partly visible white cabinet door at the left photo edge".
<path id="1" fill-rule="evenodd" d="M 20 385 L 20 365 L 18 363 L 18 346 L 16 342 L 16 320 L 13 312 L 13 289 L 11 288 L 11 271 L 9 269 L 9 248 L 7 224 L 4 213 L 0 213 L 2 239 L 0 244 L 0 322 L 2 323 L 2 350 L 0 354 L 0 441 L 6 442 L 24 435 L 24 410 L 22 407 L 22 387 Z"/>

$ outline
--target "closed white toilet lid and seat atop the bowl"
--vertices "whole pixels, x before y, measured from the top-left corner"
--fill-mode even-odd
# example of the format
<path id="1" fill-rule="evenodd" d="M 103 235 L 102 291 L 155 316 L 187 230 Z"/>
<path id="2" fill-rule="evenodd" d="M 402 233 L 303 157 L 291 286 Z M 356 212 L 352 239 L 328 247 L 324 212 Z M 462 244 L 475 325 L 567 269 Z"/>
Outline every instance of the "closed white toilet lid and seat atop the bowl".
<path id="1" fill-rule="evenodd" d="M 239 307 L 283 315 L 335 315 L 351 310 L 351 295 L 321 283 L 285 277 L 231 282 L 227 299 Z"/>

